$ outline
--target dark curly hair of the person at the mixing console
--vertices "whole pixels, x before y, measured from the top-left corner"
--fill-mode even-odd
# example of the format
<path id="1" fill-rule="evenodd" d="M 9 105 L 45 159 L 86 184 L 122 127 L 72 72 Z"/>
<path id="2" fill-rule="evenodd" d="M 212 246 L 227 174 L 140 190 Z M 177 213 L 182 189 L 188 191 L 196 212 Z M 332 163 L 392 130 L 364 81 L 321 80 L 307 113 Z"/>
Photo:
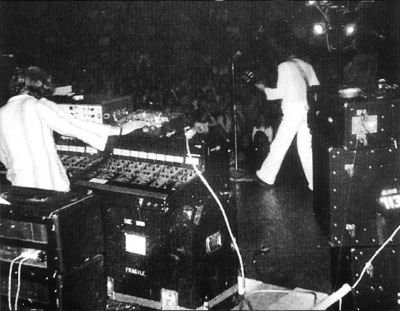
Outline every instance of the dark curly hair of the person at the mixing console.
<path id="1" fill-rule="evenodd" d="M 39 67 L 17 68 L 10 81 L 12 96 L 27 93 L 37 99 L 54 93 L 52 76 Z"/>

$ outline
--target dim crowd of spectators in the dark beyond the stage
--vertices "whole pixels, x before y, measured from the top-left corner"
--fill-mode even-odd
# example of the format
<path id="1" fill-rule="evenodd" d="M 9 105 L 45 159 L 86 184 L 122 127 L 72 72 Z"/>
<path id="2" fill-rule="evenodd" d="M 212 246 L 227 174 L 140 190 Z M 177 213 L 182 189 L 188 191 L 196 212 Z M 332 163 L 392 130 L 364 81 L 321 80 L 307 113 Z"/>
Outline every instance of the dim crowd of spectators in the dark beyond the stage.
<path id="1" fill-rule="evenodd" d="M 93 62 L 79 70 L 75 67 L 68 70 L 66 65 L 60 70 L 51 70 L 56 73 L 55 80 L 60 85 L 71 84 L 73 90 L 81 94 L 132 95 L 132 110 L 181 112 L 199 130 L 216 129 L 226 135 L 233 147 L 233 90 L 229 70 L 210 63 L 203 64 L 201 69 L 196 67 L 182 72 L 173 65 L 153 65 L 150 54 L 146 54 L 146 59 L 148 66 L 139 66 L 132 60 L 119 68 Z M 270 114 L 270 109 L 265 108 L 267 104 L 255 87 L 241 83 L 239 77 L 235 97 L 239 162 L 252 156 L 253 128 L 258 124 L 258 117 L 263 116 L 266 126 L 279 122 L 276 113 Z M 231 159 L 231 163 L 233 161 Z"/>

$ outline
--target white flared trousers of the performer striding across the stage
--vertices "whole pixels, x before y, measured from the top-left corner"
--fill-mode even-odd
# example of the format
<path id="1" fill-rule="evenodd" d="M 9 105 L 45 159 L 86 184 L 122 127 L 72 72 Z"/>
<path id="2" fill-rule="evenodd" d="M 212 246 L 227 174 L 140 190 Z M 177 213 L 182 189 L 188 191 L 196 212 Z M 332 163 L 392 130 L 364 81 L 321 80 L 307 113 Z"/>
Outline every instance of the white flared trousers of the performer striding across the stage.
<path id="1" fill-rule="evenodd" d="M 274 184 L 282 161 L 296 134 L 301 165 L 308 181 L 308 187 L 313 190 L 311 133 L 308 128 L 307 111 L 305 109 L 284 113 L 275 139 L 271 143 L 270 152 L 260 170 L 257 171 L 257 175 L 266 183 Z"/>

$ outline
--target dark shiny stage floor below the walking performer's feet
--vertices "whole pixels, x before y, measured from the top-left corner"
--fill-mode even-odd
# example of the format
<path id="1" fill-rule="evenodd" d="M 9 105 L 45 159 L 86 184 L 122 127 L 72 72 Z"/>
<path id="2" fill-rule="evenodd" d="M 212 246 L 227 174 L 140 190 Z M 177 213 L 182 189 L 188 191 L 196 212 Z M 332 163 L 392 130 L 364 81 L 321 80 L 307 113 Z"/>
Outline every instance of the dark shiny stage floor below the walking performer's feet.
<path id="1" fill-rule="evenodd" d="M 289 149 L 274 188 L 266 189 L 251 178 L 243 180 L 233 186 L 246 277 L 331 293 L 329 237 L 313 214 L 313 192 L 295 148 Z M 261 249 L 268 252 L 258 252 Z"/>

